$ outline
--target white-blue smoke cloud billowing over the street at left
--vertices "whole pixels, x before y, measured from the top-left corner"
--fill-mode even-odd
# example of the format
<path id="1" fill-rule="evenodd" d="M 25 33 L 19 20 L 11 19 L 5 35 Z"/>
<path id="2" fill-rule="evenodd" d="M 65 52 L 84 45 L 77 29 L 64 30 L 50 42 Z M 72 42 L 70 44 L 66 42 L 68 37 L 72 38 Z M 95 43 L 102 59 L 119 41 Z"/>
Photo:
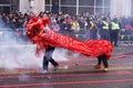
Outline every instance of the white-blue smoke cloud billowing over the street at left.
<path id="1" fill-rule="evenodd" d="M 42 68 L 43 54 L 35 56 L 35 45 L 20 44 L 11 29 L 0 28 L 0 68 Z M 53 58 L 58 62 L 68 61 L 66 51 L 57 48 Z"/>

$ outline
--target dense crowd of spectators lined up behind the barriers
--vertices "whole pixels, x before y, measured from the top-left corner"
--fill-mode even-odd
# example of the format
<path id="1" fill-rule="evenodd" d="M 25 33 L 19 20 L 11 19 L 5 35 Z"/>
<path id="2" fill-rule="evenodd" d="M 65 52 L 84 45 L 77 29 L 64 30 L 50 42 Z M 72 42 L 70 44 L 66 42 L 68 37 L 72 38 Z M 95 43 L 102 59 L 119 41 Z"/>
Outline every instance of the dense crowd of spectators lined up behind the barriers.
<path id="1" fill-rule="evenodd" d="M 101 22 L 103 18 L 109 18 L 109 22 L 113 20 L 110 15 L 104 14 L 94 14 L 90 15 L 88 12 L 79 15 L 63 14 L 53 14 L 52 12 L 45 11 L 40 13 L 22 13 L 13 11 L 10 14 L 1 13 L 0 14 L 0 26 L 8 28 L 10 31 L 19 37 L 24 37 L 24 22 L 30 19 L 30 16 L 38 15 L 42 18 L 48 15 L 50 19 L 50 28 L 61 34 L 70 35 L 74 38 L 84 41 L 84 40 L 96 40 L 100 38 Z M 116 18 L 116 16 L 114 16 Z M 122 31 L 133 30 L 133 18 L 132 16 L 122 16 L 116 18 L 121 24 Z M 93 32 L 91 33 L 91 30 Z M 131 32 L 130 32 L 131 33 Z"/>

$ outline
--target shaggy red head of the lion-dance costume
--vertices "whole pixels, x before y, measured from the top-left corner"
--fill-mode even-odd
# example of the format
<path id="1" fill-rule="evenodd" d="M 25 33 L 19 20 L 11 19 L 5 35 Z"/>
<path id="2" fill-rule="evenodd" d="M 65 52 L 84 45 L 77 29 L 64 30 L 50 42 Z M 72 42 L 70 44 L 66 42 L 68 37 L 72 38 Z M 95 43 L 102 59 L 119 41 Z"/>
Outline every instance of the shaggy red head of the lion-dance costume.
<path id="1" fill-rule="evenodd" d="M 35 36 L 38 36 L 42 31 L 43 28 L 49 24 L 48 18 L 39 18 L 34 16 L 30 19 L 28 22 L 25 22 L 25 35 L 28 38 L 33 40 Z"/>

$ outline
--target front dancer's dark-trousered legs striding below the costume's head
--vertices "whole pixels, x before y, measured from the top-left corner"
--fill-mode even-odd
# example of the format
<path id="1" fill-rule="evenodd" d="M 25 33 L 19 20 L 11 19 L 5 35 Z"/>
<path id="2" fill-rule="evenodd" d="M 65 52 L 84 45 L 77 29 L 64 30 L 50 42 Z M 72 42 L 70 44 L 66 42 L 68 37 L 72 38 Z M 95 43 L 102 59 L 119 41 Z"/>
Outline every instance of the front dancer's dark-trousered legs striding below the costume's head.
<path id="1" fill-rule="evenodd" d="M 54 66 L 54 70 L 57 70 L 59 64 L 52 58 L 52 53 L 54 51 L 53 46 L 48 45 L 45 48 L 45 54 L 43 56 L 43 74 L 48 73 L 49 63 Z"/>

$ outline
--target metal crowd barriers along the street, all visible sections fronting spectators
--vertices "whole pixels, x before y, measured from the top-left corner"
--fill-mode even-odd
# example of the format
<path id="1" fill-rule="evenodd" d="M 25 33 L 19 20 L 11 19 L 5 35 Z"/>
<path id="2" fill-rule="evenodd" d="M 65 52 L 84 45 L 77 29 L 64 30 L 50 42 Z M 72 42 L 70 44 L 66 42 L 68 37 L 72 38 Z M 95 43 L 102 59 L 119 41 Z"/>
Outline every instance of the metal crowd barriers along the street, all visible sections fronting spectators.
<path id="1" fill-rule="evenodd" d="M 89 30 L 80 30 L 80 32 L 71 31 L 70 36 L 79 41 L 90 40 Z M 133 30 L 121 30 L 119 41 L 121 44 L 133 44 Z M 29 44 L 30 40 L 25 36 L 25 29 L 3 29 L 0 28 L 0 44 L 3 43 L 22 43 Z"/>

